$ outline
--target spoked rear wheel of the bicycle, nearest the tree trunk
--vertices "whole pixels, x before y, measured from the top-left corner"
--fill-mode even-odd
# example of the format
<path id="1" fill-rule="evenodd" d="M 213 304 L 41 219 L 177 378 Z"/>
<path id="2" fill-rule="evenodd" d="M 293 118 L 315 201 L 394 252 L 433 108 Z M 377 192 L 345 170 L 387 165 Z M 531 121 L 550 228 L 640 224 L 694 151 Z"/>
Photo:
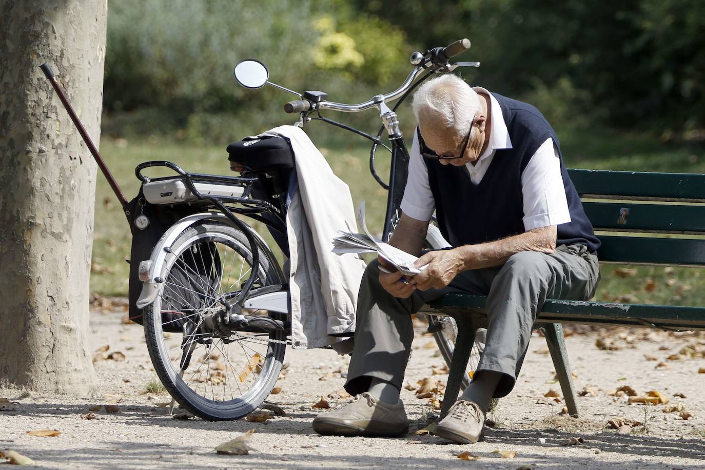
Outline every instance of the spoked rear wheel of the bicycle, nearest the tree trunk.
<path id="1" fill-rule="evenodd" d="M 157 249 L 164 247 L 157 246 Z M 229 335 L 212 328 L 223 309 L 250 278 L 252 247 L 231 225 L 202 222 L 173 242 L 159 295 L 145 309 L 145 337 L 154 370 L 166 390 L 196 416 L 238 419 L 269 395 L 281 371 L 286 332 Z M 282 283 L 276 259 L 259 246 L 252 288 Z M 243 312 L 269 316 L 266 311 Z"/>

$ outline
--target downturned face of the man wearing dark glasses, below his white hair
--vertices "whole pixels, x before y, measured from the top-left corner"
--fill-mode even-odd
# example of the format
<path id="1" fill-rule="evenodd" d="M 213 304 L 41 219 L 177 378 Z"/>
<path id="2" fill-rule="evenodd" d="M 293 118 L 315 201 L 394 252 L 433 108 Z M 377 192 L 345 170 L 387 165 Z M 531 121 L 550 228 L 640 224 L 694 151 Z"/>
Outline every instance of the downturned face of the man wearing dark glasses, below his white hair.
<path id="1" fill-rule="evenodd" d="M 427 147 L 437 156 L 455 157 L 439 159 L 443 165 L 463 166 L 474 163 L 482 154 L 485 117 L 478 113 L 470 126 L 469 135 L 458 135 L 455 130 L 443 128 L 433 120 L 419 120 L 419 130 Z M 460 158 L 458 158 L 460 157 Z"/>

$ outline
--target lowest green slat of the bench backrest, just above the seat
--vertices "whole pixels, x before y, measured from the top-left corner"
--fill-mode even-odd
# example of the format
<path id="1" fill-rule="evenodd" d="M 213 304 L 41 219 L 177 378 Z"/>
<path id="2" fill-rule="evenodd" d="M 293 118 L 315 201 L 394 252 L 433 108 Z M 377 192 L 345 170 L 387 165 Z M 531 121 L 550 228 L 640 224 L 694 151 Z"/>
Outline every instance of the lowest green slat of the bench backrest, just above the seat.
<path id="1" fill-rule="evenodd" d="M 625 264 L 705 266 L 705 240 L 598 235 L 600 261 Z"/>

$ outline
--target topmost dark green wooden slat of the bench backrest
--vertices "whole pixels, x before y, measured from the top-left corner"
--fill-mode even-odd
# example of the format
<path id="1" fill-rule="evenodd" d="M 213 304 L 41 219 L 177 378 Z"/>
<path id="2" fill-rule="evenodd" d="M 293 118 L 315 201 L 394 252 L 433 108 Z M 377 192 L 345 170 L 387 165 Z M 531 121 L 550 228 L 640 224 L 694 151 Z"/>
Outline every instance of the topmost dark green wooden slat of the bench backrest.
<path id="1" fill-rule="evenodd" d="M 639 199 L 705 199 L 705 175 L 637 171 L 568 170 L 578 194 Z"/>

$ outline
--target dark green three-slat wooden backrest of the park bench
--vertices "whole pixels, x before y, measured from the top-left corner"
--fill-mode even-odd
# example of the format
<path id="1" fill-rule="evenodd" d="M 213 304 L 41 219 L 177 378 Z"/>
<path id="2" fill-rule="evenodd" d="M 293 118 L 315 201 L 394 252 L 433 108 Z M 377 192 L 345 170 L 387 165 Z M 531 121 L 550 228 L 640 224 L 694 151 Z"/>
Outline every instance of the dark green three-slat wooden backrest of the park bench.
<path id="1" fill-rule="evenodd" d="M 705 266 L 705 175 L 568 173 L 602 242 L 601 261 Z"/>

